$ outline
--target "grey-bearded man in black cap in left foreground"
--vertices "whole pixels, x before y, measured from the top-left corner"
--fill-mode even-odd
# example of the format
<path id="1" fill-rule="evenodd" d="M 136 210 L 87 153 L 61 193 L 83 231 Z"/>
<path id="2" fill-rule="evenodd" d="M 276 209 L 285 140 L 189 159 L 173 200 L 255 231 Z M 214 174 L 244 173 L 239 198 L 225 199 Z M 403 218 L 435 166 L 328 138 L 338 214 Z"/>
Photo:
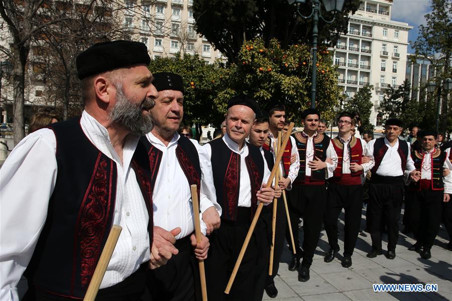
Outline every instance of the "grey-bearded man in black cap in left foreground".
<path id="1" fill-rule="evenodd" d="M 76 60 L 82 116 L 24 138 L 2 168 L 1 300 L 83 298 L 112 224 L 123 228 L 97 300 L 137 300 L 145 273 L 177 253 L 172 233 L 154 229 L 141 135 L 158 93 L 146 46 L 98 43 Z M 58 147 L 57 147 L 58 145 Z M 153 234 L 154 232 L 154 234 Z M 151 252 L 150 252 L 150 245 Z"/>

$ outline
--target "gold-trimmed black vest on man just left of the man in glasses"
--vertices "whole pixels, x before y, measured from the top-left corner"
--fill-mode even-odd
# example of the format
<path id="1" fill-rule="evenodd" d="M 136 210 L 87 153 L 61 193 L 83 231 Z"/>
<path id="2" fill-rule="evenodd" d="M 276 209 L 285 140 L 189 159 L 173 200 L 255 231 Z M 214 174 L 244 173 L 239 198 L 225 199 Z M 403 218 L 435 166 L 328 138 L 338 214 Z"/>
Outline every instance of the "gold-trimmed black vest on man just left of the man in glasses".
<path id="1" fill-rule="evenodd" d="M 297 144 L 298 155 L 300 157 L 300 169 L 298 171 L 296 182 L 301 181 L 304 182 L 305 174 L 306 174 L 306 145 L 307 138 L 302 135 L 301 132 L 297 132 L 292 134 L 292 137 L 295 138 L 295 143 Z M 330 138 L 327 135 L 317 133 L 313 137 L 314 144 L 314 158 L 318 157 L 321 161 L 325 162 L 326 160 L 326 149 L 328 149 L 330 143 Z M 311 171 L 311 179 L 315 181 L 325 182 L 325 170 L 319 171 Z"/>

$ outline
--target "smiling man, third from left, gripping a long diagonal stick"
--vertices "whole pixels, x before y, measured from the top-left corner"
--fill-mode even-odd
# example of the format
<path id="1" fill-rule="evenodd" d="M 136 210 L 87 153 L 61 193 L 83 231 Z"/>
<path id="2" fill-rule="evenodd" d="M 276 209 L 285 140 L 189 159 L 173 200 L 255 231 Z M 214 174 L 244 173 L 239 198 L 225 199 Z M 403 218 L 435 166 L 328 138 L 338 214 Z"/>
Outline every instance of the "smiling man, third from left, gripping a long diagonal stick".
<path id="1" fill-rule="evenodd" d="M 210 235 L 205 269 L 210 300 L 261 300 L 268 267 L 269 227 L 260 219 L 245 252 L 230 294 L 224 293 L 259 202 L 271 203 L 274 190 L 259 148 L 247 143 L 258 105 L 254 99 L 235 96 L 228 103 L 226 133 L 203 145 L 199 152 L 202 187 L 222 208 L 221 225 Z M 207 185 L 213 183 L 213 185 Z M 261 281 L 260 281 L 261 280 Z"/>

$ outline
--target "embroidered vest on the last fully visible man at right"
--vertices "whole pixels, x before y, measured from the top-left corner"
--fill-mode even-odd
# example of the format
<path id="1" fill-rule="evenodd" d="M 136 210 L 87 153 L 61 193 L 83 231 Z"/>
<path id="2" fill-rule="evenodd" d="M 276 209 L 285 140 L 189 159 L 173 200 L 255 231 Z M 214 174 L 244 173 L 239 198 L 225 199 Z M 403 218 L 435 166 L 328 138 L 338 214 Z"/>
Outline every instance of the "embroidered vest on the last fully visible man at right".
<path id="1" fill-rule="evenodd" d="M 425 153 L 419 153 L 417 150 L 411 154 L 411 158 L 414 161 L 414 167 L 417 171 L 422 172 L 422 164 L 424 161 Z M 436 148 L 430 155 L 431 158 L 431 190 L 444 190 L 444 183 L 442 182 L 442 170 L 444 166 L 444 161 L 446 160 L 447 154 L 441 152 L 439 148 Z M 420 191 L 420 181 L 416 183 L 411 182 L 410 188 L 412 190 Z"/>

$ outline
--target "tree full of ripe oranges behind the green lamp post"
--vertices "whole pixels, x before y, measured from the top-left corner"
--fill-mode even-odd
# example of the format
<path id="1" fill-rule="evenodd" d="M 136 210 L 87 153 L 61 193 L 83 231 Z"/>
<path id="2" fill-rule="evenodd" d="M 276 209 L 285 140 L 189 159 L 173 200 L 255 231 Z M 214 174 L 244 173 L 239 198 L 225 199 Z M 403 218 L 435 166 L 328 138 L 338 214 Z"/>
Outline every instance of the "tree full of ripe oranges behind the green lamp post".
<path id="1" fill-rule="evenodd" d="M 337 72 L 332 67 L 331 53 L 321 49 L 317 56 L 317 108 L 327 120 L 334 110 L 342 90 L 337 86 Z M 292 45 L 282 49 L 273 39 L 268 47 L 264 41 L 246 41 L 240 50 L 239 63 L 230 65 L 218 76 L 222 87 L 214 99 L 216 108 L 225 112 L 227 100 L 237 94 L 253 96 L 265 108 L 270 101 L 286 105 L 291 121 L 300 121 L 300 112 L 310 106 L 312 62 L 310 47 Z"/>

